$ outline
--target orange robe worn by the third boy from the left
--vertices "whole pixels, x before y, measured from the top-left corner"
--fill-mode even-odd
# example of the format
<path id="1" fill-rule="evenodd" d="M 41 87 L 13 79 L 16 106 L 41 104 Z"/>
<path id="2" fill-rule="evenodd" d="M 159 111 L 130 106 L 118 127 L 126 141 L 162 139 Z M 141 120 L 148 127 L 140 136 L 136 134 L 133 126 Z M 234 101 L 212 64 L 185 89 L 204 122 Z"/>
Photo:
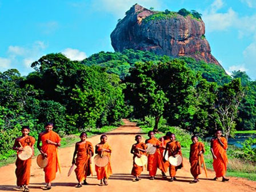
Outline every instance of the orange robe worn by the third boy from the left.
<path id="1" fill-rule="evenodd" d="M 82 182 L 87 176 L 93 173 L 90 164 L 90 153 L 93 156 L 93 145 L 91 142 L 86 141 L 78 145 L 77 158 L 75 159 L 75 174 L 77 175 L 78 182 Z"/>

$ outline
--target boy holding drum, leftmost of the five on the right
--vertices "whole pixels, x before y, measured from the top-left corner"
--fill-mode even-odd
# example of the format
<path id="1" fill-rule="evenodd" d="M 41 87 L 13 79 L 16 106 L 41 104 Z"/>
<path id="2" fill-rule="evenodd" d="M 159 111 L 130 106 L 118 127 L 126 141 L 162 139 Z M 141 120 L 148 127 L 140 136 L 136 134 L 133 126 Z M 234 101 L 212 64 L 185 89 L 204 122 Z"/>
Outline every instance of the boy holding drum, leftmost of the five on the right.
<path id="1" fill-rule="evenodd" d="M 141 176 L 141 172 L 143 171 L 144 161 L 145 163 L 147 162 L 147 157 L 146 157 L 147 146 L 144 142 L 141 142 L 141 139 L 142 139 L 141 135 L 136 135 L 135 141 L 137 141 L 137 143 L 131 146 L 131 154 L 133 154 L 133 169 L 131 170 L 131 175 L 134 175 L 136 177 L 135 179 L 133 179 L 134 182 L 139 181 L 140 179 L 139 177 Z M 145 157 L 145 160 L 143 159 L 143 157 Z M 138 162 L 135 161 L 135 158 Z"/>

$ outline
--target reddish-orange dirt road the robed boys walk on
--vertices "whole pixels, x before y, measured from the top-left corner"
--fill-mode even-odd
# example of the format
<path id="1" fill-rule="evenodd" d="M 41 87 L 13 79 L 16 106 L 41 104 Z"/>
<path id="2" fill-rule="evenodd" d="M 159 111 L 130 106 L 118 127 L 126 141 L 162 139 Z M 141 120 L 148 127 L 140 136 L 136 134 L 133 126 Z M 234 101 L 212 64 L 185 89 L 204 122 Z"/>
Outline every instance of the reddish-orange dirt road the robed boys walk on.
<path id="1" fill-rule="evenodd" d="M 132 182 L 133 177 L 130 175 L 132 167 L 132 157 L 130 154 L 130 147 L 134 141 L 134 136 L 141 130 L 136 127 L 134 123 L 125 120 L 126 125 L 107 133 L 108 143 L 113 148 L 111 156 L 111 165 L 113 175 L 109 178 L 108 186 L 98 186 L 99 181 L 94 176 L 87 178 L 90 185 L 81 188 L 75 188 L 77 179 L 75 173 L 67 177 L 67 172 L 71 166 L 71 159 L 74 152 L 74 147 L 67 147 L 59 150 L 59 158 L 61 161 L 62 173 L 57 173 L 56 179 L 53 181 L 53 187 L 50 191 L 232 191 L 232 192 L 246 192 L 256 191 L 256 182 L 248 181 L 242 178 L 230 178 L 229 182 L 223 183 L 220 181 L 206 180 L 205 175 L 202 174 L 198 183 L 189 183 L 193 178 L 190 174 L 190 165 L 187 159 L 184 159 L 184 167 L 178 170 L 177 178 L 179 181 L 168 182 L 162 179 L 161 172 L 158 170 L 157 177 L 154 181 L 149 180 L 147 171 L 142 173 L 142 180 L 139 182 Z M 87 139 L 95 146 L 99 142 L 99 135 Z M 94 165 L 92 165 L 93 170 Z M 15 187 L 15 165 L 11 164 L 0 168 L 0 191 L 13 191 Z M 214 178 L 213 171 L 208 171 L 209 178 Z M 30 191 L 41 191 L 41 186 L 44 183 L 44 173 L 42 169 L 36 165 L 35 158 L 33 159 L 31 167 Z"/>

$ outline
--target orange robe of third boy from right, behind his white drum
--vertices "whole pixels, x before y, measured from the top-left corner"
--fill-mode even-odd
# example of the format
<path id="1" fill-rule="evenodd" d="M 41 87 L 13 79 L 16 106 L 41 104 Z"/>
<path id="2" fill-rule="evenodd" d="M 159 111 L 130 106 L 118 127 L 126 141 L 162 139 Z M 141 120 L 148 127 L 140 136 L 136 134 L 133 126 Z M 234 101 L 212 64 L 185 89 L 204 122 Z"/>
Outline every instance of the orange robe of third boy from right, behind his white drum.
<path id="1" fill-rule="evenodd" d="M 181 144 L 178 141 L 170 142 L 169 143 L 169 149 L 168 149 L 169 157 L 173 155 L 172 151 L 177 151 L 178 149 L 180 151 L 177 154 L 182 156 Z M 177 170 L 181 169 L 182 167 L 183 167 L 183 163 L 181 163 L 181 165 L 179 165 L 179 166 L 173 166 L 173 165 L 170 164 L 170 166 L 169 166 L 170 177 L 175 177 Z"/>

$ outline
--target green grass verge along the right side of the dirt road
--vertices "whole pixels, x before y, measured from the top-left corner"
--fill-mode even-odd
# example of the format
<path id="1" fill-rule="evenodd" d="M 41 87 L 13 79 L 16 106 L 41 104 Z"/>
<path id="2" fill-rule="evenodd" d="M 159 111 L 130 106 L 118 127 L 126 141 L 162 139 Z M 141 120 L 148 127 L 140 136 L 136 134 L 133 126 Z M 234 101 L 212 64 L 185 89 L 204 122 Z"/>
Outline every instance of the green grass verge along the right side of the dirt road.
<path id="1" fill-rule="evenodd" d="M 133 120 L 133 122 L 135 122 Z M 138 126 L 141 127 L 142 131 L 147 133 L 151 130 L 153 130 L 153 126 L 147 126 L 147 125 L 140 125 L 138 122 Z M 190 144 L 191 142 L 191 134 L 188 133 L 185 130 L 180 129 L 179 127 L 168 127 L 169 129 L 167 131 L 171 131 L 172 133 L 175 133 L 175 137 L 177 141 L 181 143 L 182 146 L 182 156 L 185 158 L 189 158 L 190 153 Z M 157 133 L 155 134 L 156 138 L 160 138 L 165 133 Z M 148 138 L 147 134 L 143 135 L 143 137 Z M 213 157 L 210 152 L 210 142 L 202 141 L 202 139 L 199 138 L 199 141 L 203 142 L 205 145 L 205 154 L 204 159 L 206 163 L 207 169 L 213 170 Z M 230 146 L 227 151 L 227 156 L 229 159 L 229 164 L 227 166 L 227 176 L 229 177 L 241 177 L 246 178 L 252 181 L 256 181 L 256 165 L 254 165 L 251 162 L 243 161 L 242 159 L 237 159 L 232 157 L 232 154 L 234 153 L 241 153 L 241 149 L 238 149 L 237 147 Z"/>

